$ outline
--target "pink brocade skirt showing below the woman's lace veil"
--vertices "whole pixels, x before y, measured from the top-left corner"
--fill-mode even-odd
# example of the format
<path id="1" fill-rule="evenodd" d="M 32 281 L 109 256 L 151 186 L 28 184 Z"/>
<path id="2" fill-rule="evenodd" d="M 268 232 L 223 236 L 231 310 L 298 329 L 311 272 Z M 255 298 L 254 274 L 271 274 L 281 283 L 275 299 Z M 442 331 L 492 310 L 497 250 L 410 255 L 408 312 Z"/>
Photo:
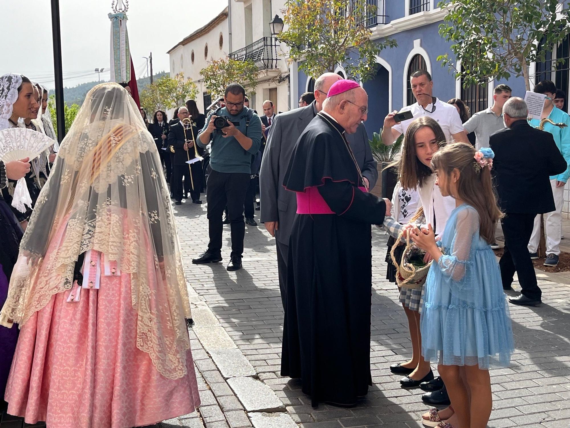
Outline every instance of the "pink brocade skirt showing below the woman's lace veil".
<path id="1" fill-rule="evenodd" d="M 52 296 L 23 325 L 6 387 L 9 414 L 48 428 L 131 428 L 200 405 L 190 350 L 186 375 L 167 379 L 137 348 L 129 273 L 101 275 L 99 289 L 68 302 L 75 289 Z"/>

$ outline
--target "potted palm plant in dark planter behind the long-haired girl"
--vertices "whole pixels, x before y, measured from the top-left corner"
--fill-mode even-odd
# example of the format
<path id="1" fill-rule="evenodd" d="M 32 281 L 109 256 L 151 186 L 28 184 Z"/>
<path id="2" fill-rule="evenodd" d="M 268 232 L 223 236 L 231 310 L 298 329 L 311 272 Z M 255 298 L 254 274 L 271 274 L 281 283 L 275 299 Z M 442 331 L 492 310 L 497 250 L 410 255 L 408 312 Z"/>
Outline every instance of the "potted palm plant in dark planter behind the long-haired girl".
<path id="1" fill-rule="evenodd" d="M 396 168 L 386 169 L 386 167 L 398 159 L 403 140 L 404 135 L 402 134 L 392 145 L 386 146 L 382 142 L 382 130 L 380 130 L 380 133 L 374 132 L 372 140 L 369 140 L 368 143 L 370 144 L 372 156 L 378 163 L 378 181 L 370 191 L 374 195 L 387 197 L 388 199 L 392 198 L 394 187 L 396 187 L 398 181 L 398 172 Z"/>

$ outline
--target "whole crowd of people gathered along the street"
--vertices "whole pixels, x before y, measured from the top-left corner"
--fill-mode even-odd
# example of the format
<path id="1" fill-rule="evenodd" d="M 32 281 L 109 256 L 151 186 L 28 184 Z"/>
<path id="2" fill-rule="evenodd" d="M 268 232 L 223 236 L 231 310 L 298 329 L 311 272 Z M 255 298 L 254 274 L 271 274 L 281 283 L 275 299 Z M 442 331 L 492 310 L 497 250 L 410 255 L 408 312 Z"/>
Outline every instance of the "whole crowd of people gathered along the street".
<path id="1" fill-rule="evenodd" d="M 46 88 L 17 74 L 0 83 L 0 130 L 55 139 Z M 445 406 L 427 411 L 424 425 L 486 426 L 488 369 L 508 366 L 514 352 L 503 291 L 515 272 L 522 292 L 509 301 L 541 303 L 531 260 L 541 215 L 544 264 L 559 261 L 570 128 L 557 125 L 570 125 L 570 116 L 549 81 L 534 89 L 545 94 L 544 131 L 506 84 L 473 116 L 461 99 L 435 97 L 425 70 L 410 86 L 416 103 L 390 112 L 382 128 L 384 144 L 404 136 L 389 167 L 398 174 L 391 200 L 370 192 L 378 168 L 364 127 L 368 94 L 335 73 L 319 76 L 291 111 L 265 100 L 258 115 L 232 83 L 206 114 L 188 100 L 170 121 L 162 110 L 148 120 L 122 85 L 99 84 L 60 146 L 31 161 L 0 161 L 0 393 L 8 412 L 58 428 L 131 428 L 200 405 L 171 200 L 200 205 L 206 193 L 209 244 L 192 263 L 222 261 L 227 223 L 226 269 L 241 269 L 246 224 L 257 226 L 260 210 L 276 239 L 281 374 L 300 378 L 313 406 L 356 405 L 372 385 L 376 225 L 389 235 L 386 279 L 398 284 L 412 348 L 389 370 L 403 376 L 402 387 L 425 390 L 427 405 Z M 411 117 L 397 120 L 404 111 Z M 32 199 L 26 212 L 11 206 L 22 177 Z M 414 286 L 400 273 L 410 240 L 430 265 Z"/>

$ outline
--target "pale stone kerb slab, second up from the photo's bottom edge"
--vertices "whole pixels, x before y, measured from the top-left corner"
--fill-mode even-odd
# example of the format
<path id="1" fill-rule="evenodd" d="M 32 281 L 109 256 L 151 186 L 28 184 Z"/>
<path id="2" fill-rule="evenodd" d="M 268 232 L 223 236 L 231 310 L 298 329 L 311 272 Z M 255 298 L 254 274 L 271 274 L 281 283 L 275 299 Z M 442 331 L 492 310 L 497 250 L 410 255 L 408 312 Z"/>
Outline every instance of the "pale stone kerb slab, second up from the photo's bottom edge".
<path id="1" fill-rule="evenodd" d="M 247 411 L 285 409 L 283 402 L 265 383 L 250 377 L 234 377 L 227 383 Z"/>

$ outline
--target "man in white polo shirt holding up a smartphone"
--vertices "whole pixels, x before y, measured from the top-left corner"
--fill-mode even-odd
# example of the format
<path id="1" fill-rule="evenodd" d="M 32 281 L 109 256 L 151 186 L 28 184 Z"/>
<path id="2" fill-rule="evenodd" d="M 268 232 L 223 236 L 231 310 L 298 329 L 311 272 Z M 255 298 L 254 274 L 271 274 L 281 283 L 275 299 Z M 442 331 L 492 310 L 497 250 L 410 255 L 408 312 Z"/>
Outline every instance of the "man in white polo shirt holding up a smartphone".
<path id="1" fill-rule="evenodd" d="M 447 141 L 455 140 L 469 143 L 455 106 L 442 102 L 432 95 L 433 82 L 429 72 L 427 70 L 413 72 L 410 76 L 410 84 L 416 103 L 402 109 L 400 114 L 395 110 L 388 113 L 384 119 L 384 128 L 382 128 L 382 142 L 386 146 L 390 146 L 401 134 L 406 134 L 408 126 L 414 119 L 430 116 L 430 118 L 437 120 Z M 410 112 L 411 117 L 409 117 Z"/>

